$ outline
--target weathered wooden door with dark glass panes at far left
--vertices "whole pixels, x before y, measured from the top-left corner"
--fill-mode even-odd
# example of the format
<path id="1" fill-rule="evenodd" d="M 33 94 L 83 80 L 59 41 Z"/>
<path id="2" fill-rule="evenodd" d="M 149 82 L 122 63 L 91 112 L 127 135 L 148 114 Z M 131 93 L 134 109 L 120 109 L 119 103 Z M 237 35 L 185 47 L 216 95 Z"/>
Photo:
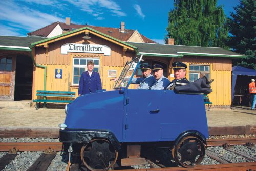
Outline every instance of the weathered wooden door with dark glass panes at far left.
<path id="1" fill-rule="evenodd" d="M 15 57 L 0 57 L 0 100 L 14 100 Z"/>

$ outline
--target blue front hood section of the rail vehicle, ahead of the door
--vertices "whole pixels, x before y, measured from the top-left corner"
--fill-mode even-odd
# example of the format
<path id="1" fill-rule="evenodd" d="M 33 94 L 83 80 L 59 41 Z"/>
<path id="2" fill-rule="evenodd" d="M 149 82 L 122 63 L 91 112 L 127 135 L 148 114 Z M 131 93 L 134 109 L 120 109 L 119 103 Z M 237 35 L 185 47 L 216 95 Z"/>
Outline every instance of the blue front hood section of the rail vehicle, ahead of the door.
<path id="1" fill-rule="evenodd" d="M 122 139 L 123 94 L 118 90 L 97 92 L 77 97 L 69 106 L 67 129 L 110 130 Z"/>

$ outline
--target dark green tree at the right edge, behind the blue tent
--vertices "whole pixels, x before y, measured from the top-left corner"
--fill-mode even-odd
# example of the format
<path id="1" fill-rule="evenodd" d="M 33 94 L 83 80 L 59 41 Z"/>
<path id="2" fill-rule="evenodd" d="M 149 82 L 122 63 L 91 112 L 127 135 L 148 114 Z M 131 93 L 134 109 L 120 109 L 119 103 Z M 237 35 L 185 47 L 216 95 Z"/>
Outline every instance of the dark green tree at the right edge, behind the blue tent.
<path id="1" fill-rule="evenodd" d="M 236 13 L 231 12 L 231 18 L 228 18 L 232 34 L 229 45 L 232 50 L 247 57 L 233 60 L 233 64 L 256 69 L 256 1 L 242 0 L 234 10 Z"/>

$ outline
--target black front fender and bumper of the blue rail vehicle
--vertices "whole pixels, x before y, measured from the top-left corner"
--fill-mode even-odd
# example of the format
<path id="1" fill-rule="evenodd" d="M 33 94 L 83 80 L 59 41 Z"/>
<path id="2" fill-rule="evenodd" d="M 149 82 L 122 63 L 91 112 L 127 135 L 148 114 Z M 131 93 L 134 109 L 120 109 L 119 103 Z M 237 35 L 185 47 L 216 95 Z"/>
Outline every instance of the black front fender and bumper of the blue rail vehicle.
<path id="1" fill-rule="evenodd" d="M 119 141 L 110 130 L 69 128 L 59 130 L 59 141 L 63 143 L 89 143 L 95 138 L 108 139 L 116 150 L 121 149 Z"/>

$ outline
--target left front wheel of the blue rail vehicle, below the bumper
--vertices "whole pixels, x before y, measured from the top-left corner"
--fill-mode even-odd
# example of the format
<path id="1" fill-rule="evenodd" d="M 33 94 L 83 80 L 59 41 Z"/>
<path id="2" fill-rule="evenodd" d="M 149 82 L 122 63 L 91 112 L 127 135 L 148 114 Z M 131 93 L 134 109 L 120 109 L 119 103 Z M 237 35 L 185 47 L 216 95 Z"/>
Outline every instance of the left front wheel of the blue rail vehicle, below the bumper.
<path id="1" fill-rule="evenodd" d="M 105 139 L 94 139 L 81 148 L 81 160 L 91 171 L 109 170 L 117 160 L 118 152 Z"/>

